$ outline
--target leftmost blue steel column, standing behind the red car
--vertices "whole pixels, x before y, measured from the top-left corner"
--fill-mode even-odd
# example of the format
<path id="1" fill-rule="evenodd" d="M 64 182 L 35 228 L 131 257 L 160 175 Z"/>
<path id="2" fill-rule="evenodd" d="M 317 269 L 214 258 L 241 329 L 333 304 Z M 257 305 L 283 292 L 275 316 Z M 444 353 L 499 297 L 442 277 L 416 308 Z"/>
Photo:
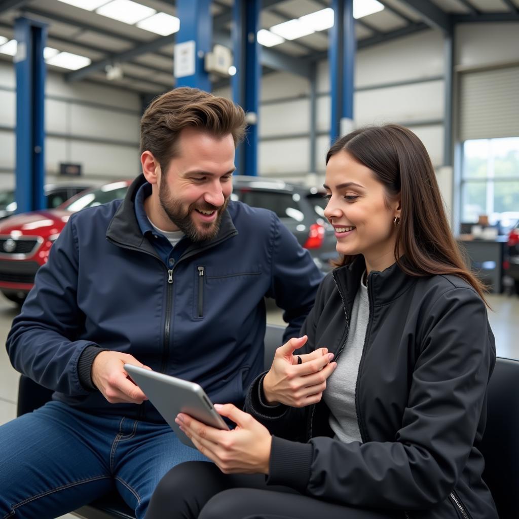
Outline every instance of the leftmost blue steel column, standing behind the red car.
<path id="1" fill-rule="evenodd" d="M 15 21 L 16 70 L 16 202 L 17 212 L 46 207 L 45 24 L 28 18 Z"/>

